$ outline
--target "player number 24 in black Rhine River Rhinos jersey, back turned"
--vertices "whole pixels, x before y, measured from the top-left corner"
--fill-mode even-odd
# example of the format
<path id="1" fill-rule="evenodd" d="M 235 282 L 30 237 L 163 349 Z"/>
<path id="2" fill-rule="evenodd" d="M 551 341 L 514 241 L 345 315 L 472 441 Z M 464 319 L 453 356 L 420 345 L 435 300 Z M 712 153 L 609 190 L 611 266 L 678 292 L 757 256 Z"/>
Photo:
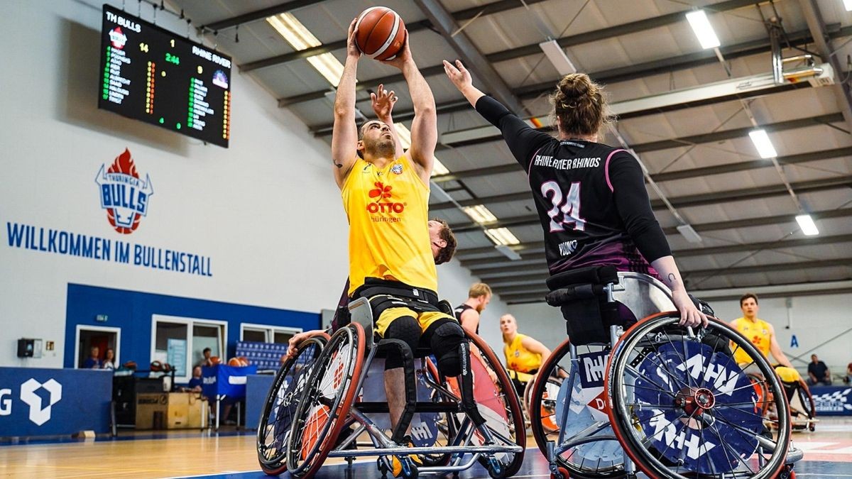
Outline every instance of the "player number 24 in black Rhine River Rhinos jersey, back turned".
<path id="1" fill-rule="evenodd" d="M 597 265 L 651 274 L 671 288 L 681 325 L 706 326 L 653 216 L 642 168 L 625 150 L 597 142 L 611 121 L 601 86 L 584 73 L 561 78 L 551 96 L 554 138 L 476 89 L 461 61 L 444 61 L 444 71 L 527 171 L 551 275 Z"/>

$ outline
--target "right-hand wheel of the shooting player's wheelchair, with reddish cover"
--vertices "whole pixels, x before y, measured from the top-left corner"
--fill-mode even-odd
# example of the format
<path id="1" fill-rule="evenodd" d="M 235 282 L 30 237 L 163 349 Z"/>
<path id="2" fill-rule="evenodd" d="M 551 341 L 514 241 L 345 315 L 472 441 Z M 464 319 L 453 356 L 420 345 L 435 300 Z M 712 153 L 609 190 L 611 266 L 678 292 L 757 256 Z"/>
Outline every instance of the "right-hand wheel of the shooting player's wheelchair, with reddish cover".
<path id="1" fill-rule="evenodd" d="M 467 337 L 470 340 L 471 349 L 479 349 L 482 357 L 482 366 L 486 372 L 485 378 L 477 377 L 475 372 L 475 363 L 471 358 L 471 369 L 474 370 L 474 396 L 476 403 L 479 405 L 483 417 L 486 418 L 486 426 L 495 432 L 499 432 L 506 436 L 516 445 L 527 448 L 527 430 L 524 427 L 524 415 L 521 411 L 521 401 L 518 400 L 518 395 L 515 392 L 515 386 L 509 379 L 509 374 L 503 367 L 503 364 L 497 359 L 497 355 L 488 344 L 479 336 L 467 332 Z M 492 383 L 491 376 L 495 375 L 498 378 L 497 383 Z M 481 375 L 482 376 L 482 375 Z M 480 384 L 489 386 L 487 398 L 482 398 L 479 391 L 484 389 L 477 388 L 477 381 Z M 490 411 L 488 408 L 493 408 Z M 495 411 L 502 409 L 502 411 Z M 499 415 L 499 419 L 491 414 L 495 411 Z M 504 429 L 508 425 L 508 430 Z M 500 430 L 503 428 L 504 430 Z M 499 457 L 497 457 L 499 456 Z M 481 458 L 484 459 L 484 458 Z M 499 472 L 495 472 L 492 465 L 483 464 L 486 466 L 490 476 L 494 478 L 511 477 L 521 470 L 521 465 L 524 461 L 524 453 L 499 453 L 495 458 L 499 463 Z M 482 461 L 487 463 L 488 461 Z"/>

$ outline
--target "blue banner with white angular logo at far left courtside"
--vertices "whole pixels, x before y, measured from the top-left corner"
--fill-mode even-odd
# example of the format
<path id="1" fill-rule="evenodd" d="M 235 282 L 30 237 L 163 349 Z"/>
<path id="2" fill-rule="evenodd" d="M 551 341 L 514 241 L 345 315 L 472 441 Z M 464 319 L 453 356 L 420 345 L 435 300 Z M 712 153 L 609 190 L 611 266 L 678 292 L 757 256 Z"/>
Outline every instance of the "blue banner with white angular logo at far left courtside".
<path id="1" fill-rule="evenodd" d="M 0 367 L 0 436 L 109 431 L 112 371 Z"/>

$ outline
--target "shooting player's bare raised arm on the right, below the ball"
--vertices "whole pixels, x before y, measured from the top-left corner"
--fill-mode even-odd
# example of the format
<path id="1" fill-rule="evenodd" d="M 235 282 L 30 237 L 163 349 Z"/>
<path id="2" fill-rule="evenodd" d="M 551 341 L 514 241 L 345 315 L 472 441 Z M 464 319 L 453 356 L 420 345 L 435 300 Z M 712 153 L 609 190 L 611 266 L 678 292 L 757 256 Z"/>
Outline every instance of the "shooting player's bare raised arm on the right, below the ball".
<path id="1" fill-rule="evenodd" d="M 385 61 L 396 66 L 406 78 L 408 92 L 412 95 L 414 104 L 414 119 L 412 119 L 412 146 L 408 148 L 408 158 L 417 165 L 417 173 L 424 183 L 429 184 L 432 176 L 432 166 L 435 164 L 435 146 L 438 144 L 438 115 L 435 113 L 435 97 L 432 89 L 426 83 L 426 78 L 417 69 L 417 64 L 408 48 L 408 34 L 399 55 L 391 61 Z"/>

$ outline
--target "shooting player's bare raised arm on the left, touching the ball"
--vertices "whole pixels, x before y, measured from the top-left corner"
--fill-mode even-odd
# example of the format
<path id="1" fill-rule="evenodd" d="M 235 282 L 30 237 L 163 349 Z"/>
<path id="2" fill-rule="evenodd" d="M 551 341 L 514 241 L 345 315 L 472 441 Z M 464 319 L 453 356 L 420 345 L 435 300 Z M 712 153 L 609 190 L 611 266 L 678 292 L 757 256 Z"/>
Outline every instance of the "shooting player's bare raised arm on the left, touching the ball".
<path id="1" fill-rule="evenodd" d="M 334 99 L 334 128 L 331 130 L 331 161 L 334 162 L 334 181 L 343 188 L 349 171 L 355 164 L 358 128 L 355 126 L 355 75 L 358 72 L 360 51 L 355 46 L 355 20 L 349 24 L 346 45 L 346 65 L 337 84 Z"/>

